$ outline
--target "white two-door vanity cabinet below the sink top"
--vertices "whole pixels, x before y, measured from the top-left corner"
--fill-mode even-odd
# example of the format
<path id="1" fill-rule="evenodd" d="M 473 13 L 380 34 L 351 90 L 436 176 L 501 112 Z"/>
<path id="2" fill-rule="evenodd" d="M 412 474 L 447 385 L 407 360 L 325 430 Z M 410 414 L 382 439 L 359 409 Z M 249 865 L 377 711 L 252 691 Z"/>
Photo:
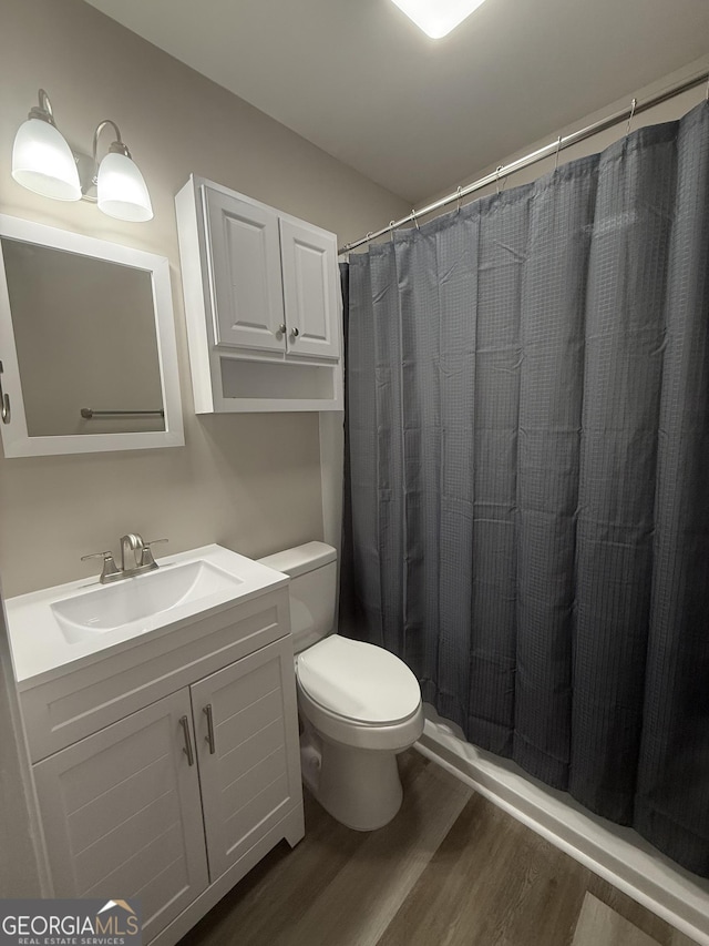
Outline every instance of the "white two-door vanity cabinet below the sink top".
<path id="1" fill-rule="evenodd" d="M 145 943 L 304 834 L 285 588 L 20 696 L 54 895 L 138 898 Z"/>

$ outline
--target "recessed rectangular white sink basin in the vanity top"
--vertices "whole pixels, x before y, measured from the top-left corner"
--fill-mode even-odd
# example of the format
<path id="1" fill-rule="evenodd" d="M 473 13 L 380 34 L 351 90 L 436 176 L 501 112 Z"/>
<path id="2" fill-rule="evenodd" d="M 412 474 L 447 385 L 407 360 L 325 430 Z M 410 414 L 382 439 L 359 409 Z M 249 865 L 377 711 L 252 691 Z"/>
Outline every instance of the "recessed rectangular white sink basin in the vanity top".
<path id="1" fill-rule="evenodd" d="M 204 559 L 166 566 L 115 584 L 102 584 L 50 604 L 70 643 L 114 631 L 220 592 L 236 591 L 243 580 Z"/>

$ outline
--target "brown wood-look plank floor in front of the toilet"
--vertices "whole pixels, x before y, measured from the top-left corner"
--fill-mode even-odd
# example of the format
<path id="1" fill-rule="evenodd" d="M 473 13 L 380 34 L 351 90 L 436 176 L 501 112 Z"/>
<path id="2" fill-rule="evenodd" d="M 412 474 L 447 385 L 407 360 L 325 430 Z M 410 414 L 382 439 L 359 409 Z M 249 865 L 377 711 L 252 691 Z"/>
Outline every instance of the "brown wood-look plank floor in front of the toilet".
<path id="1" fill-rule="evenodd" d="M 692 946 L 413 750 L 404 802 L 380 831 L 306 795 L 284 842 L 181 946 Z"/>

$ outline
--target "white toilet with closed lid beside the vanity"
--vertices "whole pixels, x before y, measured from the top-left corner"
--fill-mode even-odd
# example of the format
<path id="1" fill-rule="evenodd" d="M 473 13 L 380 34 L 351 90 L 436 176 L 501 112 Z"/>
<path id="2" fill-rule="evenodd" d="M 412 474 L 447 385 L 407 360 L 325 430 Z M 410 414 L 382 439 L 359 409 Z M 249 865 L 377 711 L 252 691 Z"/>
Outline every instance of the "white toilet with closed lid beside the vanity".
<path id="1" fill-rule="evenodd" d="M 348 827 L 382 827 L 401 805 L 397 754 L 423 732 L 419 681 L 383 648 L 331 633 L 331 546 L 307 542 L 260 562 L 290 576 L 302 780 Z"/>

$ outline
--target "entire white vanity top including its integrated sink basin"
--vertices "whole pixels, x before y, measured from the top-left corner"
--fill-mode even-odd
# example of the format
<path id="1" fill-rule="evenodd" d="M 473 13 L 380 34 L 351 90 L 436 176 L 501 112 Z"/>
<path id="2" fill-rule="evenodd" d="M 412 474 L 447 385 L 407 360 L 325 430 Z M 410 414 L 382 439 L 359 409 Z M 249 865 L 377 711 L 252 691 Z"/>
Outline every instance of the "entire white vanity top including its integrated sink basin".
<path id="1" fill-rule="evenodd" d="M 103 660 L 147 634 L 169 634 L 288 582 L 222 546 L 158 560 L 155 571 L 101 584 L 97 576 L 6 601 L 20 689 Z"/>

